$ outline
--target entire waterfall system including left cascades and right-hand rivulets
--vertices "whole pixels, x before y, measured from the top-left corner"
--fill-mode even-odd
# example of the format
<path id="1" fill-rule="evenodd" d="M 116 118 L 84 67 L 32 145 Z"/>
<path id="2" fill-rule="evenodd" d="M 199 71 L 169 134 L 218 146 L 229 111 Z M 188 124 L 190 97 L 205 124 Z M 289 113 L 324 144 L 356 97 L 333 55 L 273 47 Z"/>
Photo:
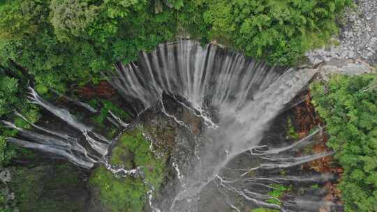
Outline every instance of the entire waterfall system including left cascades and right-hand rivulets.
<path id="1" fill-rule="evenodd" d="M 286 210 L 286 206 L 291 206 L 295 202 L 282 206 L 268 203 L 266 200 L 271 197 L 249 188 L 240 189 L 232 184 L 240 181 L 246 185 L 248 183 L 264 185 L 265 181 L 320 181 L 322 178 L 329 177 L 308 176 L 290 179 L 246 177 L 251 170 L 293 167 L 331 154 L 323 153 L 301 158 L 281 155 L 285 151 L 306 145 L 318 131 L 295 144 L 281 148 L 266 149 L 266 146 L 258 146 L 269 123 L 308 84 L 315 74 L 313 70 L 272 68 L 265 63 L 246 59 L 242 54 L 223 50 L 216 45 L 202 47 L 191 40 L 179 40 L 177 43 L 159 45 L 154 52 L 142 53 L 139 61 L 128 65 L 117 63 L 116 67 L 117 73 L 107 75 L 108 80 L 124 100 L 135 106 L 138 113 L 159 105 L 166 116 L 174 119 L 180 126 L 189 128 L 184 121 L 169 114 L 163 103 L 165 93 L 175 98 L 183 107 L 190 109 L 195 116 L 202 117 L 206 125 L 200 134 L 203 139 L 196 141 L 195 153 L 193 158 L 189 159 L 193 162 L 191 169 L 181 169 L 182 166 L 178 161 L 172 163 L 177 170 L 180 182 L 179 191 L 168 207 L 158 209 L 156 206 L 151 206 L 154 211 L 199 211 L 200 192 L 210 183 L 216 184 L 222 195 L 228 199 L 226 202 L 230 208 L 235 211 L 239 209 L 232 204 L 226 195 L 227 192 L 233 192 L 257 206 Z M 77 121 L 66 109 L 43 100 L 33 89 L 30 89 L 30 95 L 31 102 L 44 107 L 84 135 L 89 146 L 84 147 L 77 141 L 77 138 L 61 132 L 53 132 L 32 125 L 49 134 L 45 137 L 40 137 L 38 134 L 38 137 L 34 132 L 22 130 L 11 123 L 4 122 L 8 127 L 19 130 L 23 137 L 33 141 L 9 138 L 10 142 L 56 153 L 81 167 L 91 168 L 94 164 L 104 161 L 103 158 L 108 154 L 111 141 L 96 134 L 91 127 Z M 181 101 L 182 99 L 184 101 Z M 91 112 L 96 111 L 94 108 L 89 108 L 89 105 L 74 102 Z M 108 119 L 112 123 L 122 128 L 128 127 L 127 123 L 121 121 L 112 112 L 110 115 Z M 90 150 L 88 150 L 89 147 Z M 256 167 L 244 167 L 243 170 L 239 170 L 237 179 L 226 179 L 226 176 L 222 174 L 223 170 L 227 169 L 228 164 L 237 156 L 246 152 L 263 162 Z M 105 166 L 113 173 L 121 172 L 124 175 L 137 176 L 140 172 L 140 169 L 114 168 L 107 162 Z M 151 195 L 150 191 L 148 195 Z M 152 204 L 151 197 L 149 197 L 149 202 Z"/>

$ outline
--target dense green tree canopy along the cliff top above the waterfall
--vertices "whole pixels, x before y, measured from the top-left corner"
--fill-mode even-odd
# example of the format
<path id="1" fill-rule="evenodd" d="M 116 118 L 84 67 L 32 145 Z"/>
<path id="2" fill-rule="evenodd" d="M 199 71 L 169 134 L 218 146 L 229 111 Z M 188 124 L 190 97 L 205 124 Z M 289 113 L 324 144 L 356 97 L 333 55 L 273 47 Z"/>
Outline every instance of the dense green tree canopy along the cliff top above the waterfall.
<path id="1" fill-rule="evenodd" d="M 40 93 L 96 83 L 117 61 L 191 35 L 288 65 L 337 31 L 350 0 L 15 0 L 0 4 L 0 63 L 34 77 Z"/>

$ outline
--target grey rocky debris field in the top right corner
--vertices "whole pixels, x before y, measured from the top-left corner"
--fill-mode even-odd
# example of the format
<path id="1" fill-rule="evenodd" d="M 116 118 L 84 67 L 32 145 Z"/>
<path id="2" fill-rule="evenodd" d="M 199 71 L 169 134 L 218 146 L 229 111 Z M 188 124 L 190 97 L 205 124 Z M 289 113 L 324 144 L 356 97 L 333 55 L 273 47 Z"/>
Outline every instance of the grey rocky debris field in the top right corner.
<path id="1" fill-rule="evenodd" d="M 339 20 L 342 27 L 337 42 L 334 42 L 339 45 L 306 53 L 312 65 L 338 60 L 350 63 L 347 59 L 377 65 L 377 1 L 355 0 L 355 4 L 356 7 L 348 8 Z"/>

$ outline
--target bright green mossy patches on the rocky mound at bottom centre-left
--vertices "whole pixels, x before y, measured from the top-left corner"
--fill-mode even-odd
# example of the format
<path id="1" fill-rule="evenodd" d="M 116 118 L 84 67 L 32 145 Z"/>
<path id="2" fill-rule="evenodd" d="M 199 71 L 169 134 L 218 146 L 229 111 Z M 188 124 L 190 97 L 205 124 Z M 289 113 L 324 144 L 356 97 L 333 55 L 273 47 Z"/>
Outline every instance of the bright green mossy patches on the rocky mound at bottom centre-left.
<path id="1" fill-rule="evenodd" d="M 142 167 L 145 181 L 131 176 L 117 178 L 105 168 L 99 167 L 89 182 L 98 192 L 103 205 L 110 211 L 142 211 L 147 201 L 150 185 L 160 188 L 164 177 L 165 158 L 156 158 L 149 151 L 149 144 L 140 129 L 122 135 L 112 151 L 110 163 L 124 165 L 127 169 Z"/>

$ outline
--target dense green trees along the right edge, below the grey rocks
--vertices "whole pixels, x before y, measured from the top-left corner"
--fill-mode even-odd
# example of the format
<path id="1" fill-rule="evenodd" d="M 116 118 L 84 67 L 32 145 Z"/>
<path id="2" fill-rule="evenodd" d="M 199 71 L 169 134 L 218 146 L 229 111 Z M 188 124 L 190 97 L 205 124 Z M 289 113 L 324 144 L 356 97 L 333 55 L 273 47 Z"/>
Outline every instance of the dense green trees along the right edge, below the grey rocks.
<path id="1" fill-rule="evenodd" d="M 344 169 L 339 189 L 346 211 L 377 211 L 376 75 L 334 75 L 311 86 L 313 104 L 327 123 L 335 158 Z"/>

